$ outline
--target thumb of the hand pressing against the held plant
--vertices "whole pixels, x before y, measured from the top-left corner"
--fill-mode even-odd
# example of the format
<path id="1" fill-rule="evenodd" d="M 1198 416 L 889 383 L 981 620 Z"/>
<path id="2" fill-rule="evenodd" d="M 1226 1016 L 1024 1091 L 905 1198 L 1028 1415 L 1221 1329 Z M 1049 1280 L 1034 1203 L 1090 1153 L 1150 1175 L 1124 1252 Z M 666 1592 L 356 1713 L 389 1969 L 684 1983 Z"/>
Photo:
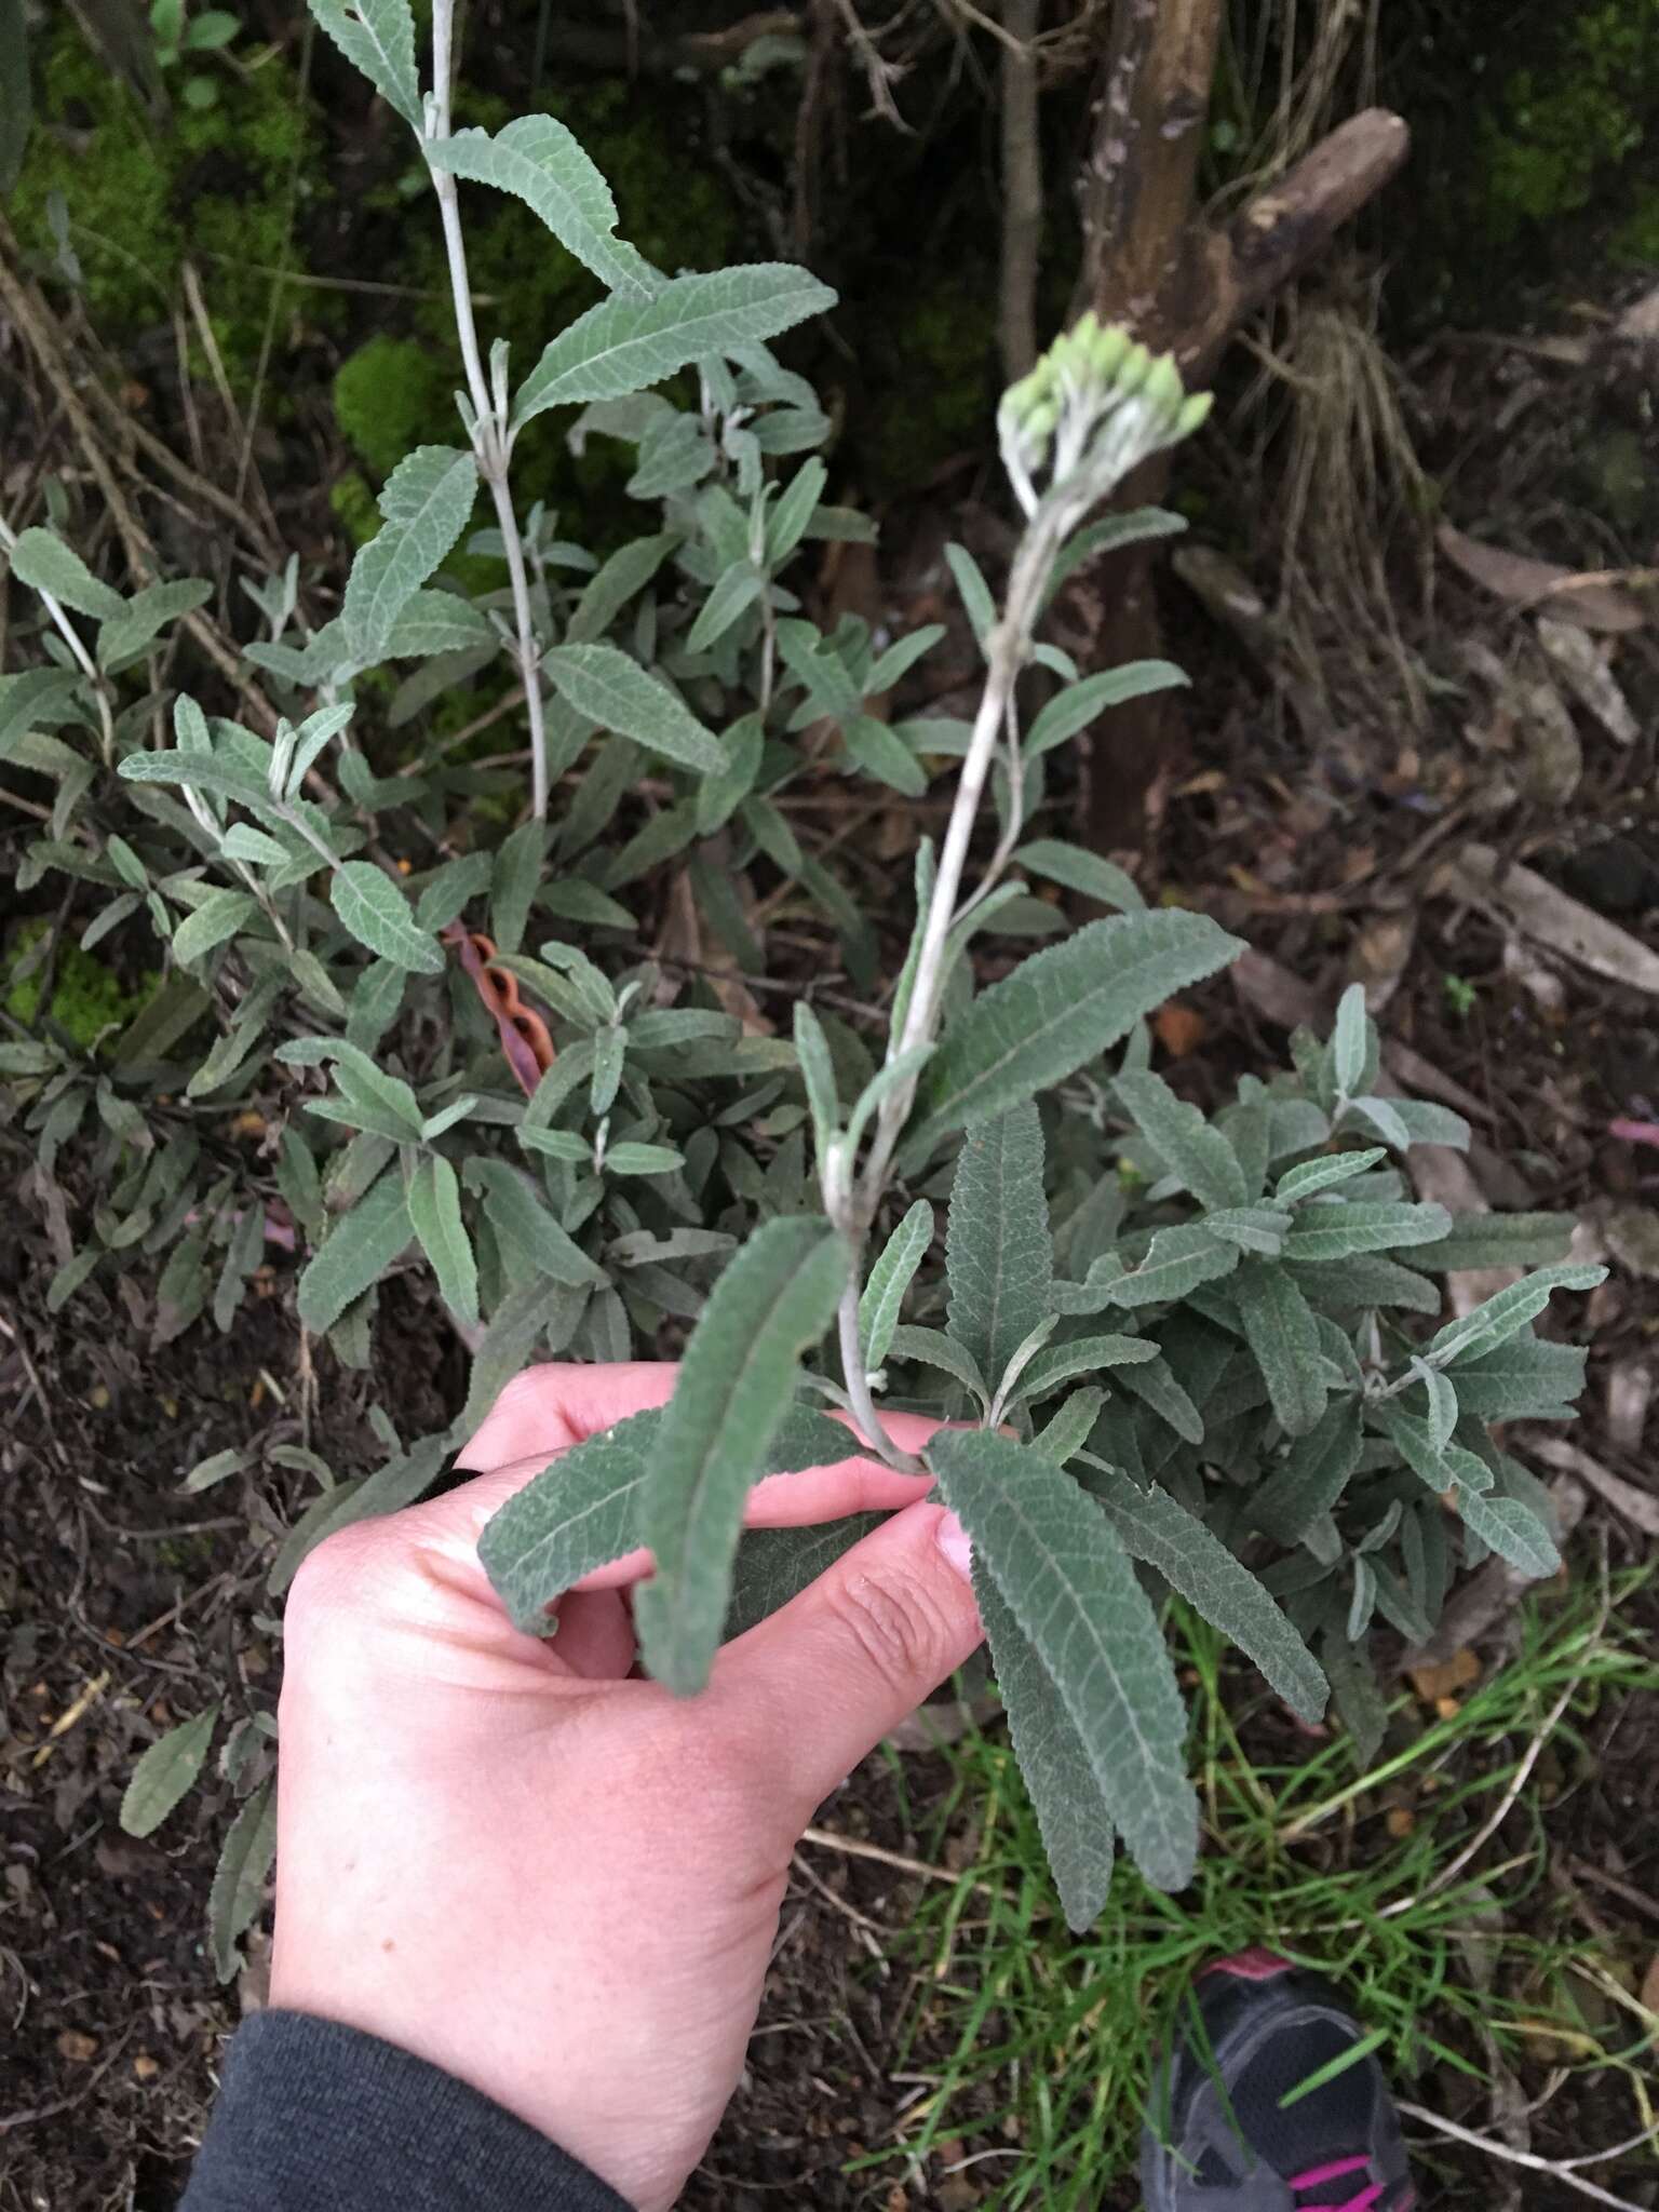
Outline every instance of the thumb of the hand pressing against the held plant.
<path id="1" fill-rule="evenodd" d="M 967 1533 L 925 1502 L 730 1644 L 714 1683 L 805 1823 L 982 1639 Z"/>

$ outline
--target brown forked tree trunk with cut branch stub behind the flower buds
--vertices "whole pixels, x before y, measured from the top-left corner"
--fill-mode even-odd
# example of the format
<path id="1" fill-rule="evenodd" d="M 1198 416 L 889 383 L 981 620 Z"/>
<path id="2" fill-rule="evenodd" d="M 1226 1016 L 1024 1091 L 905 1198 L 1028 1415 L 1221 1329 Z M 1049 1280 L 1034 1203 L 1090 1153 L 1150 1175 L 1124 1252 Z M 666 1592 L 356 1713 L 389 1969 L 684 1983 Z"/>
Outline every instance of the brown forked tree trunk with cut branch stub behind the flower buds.
<path id="1" fill-rule="evenodd" d="M 1325 252 L 1407 153 L 1400 117 L 1367 108 L 1230 223 L 1206 223 L 1197 177 L 1219 31 L 1221 0 L 1119 0 L 1077 186 L 1084 268 L 1073 312 L 1093 307 L 1157 352 L 1172 352 L 1190 387 L 1210 380 L 1234 330 Z M 1150 460 L 1119 489 L 1117 504 L 1157 502 L 1168 478 L 1170 458 Z M 1157 657 L 1150 549 L 1128 549 L 1082 577 L 1073 624 L 1088 668 Z M 1082 825 L 1095 852 L 1137 841 L 1146 792 L 1179 732 L 1177 714 L 1172 695 L 1150 695 L 1095 728 Z"/>

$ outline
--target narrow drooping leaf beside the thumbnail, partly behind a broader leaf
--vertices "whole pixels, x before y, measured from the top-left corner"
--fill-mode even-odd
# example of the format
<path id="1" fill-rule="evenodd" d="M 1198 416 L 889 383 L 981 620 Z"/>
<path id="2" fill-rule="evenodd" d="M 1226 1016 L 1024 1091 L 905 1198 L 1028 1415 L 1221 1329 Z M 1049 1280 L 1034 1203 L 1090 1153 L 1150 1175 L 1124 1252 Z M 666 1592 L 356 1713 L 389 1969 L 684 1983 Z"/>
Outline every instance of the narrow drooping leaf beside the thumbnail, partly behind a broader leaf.
<path id="1" fill-rule="evenodd" d="M 973 1595 L 1060 1907 L 1066 1924 L 1082 1933 L 1110 1889 L 1113 1816 L 1053 1674 L 980 1557 L 973 1559 Z"/>

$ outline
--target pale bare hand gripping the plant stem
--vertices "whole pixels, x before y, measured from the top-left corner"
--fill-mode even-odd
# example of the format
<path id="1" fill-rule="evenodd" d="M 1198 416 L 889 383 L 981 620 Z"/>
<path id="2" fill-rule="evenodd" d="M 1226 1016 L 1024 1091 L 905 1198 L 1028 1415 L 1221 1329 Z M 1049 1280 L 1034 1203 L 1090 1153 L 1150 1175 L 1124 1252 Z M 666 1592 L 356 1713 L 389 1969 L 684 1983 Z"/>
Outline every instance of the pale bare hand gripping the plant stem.
<path id="1" fill-rule="evenodd" d="M 270 2002 L 429 2059 L 639 2212 L 730 2099 L 816 1805 L 980 1641 L 927 1478 L 772 1475 L 750 1526 L 898 1509 L 728 1644 L 703 1697 L 633 1677 L 646 1553 L 515 1630 L 478 1533 L 557 1451 L 664 1405 L 672 1365 L 533 1367 L 447 1498 L 321 1544 L 288 1599 Z M 894 1416 L 918 1449 L 933 1422 Z"/>

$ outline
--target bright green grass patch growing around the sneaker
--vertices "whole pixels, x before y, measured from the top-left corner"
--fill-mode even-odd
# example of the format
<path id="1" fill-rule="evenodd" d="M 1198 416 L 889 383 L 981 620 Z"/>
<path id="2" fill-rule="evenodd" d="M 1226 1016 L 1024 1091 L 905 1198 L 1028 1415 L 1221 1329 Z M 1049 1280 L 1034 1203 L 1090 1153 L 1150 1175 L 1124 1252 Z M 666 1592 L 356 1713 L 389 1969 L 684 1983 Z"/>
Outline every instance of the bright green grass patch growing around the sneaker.
<path id="1" fill-rule="evenodd" d="M 1615 1582 L 1606 1619 L 1595 1590 L 1531 1601 L 1517 1652 L 1458 1712 L 1402 1692 L 1367 1772 L 1347 1736 L 1305 1736 L 1265 1692 L 1252 1701 L 1228 1646 L 1175 1608 L 1206 1812 L 1199 1876 L 1161 1896 L 1119 1856 L 1082 1938 L 1060 1918 L 1004 1734 L 967 1736 L 925 1838 L 938 1856 L 962 1807 L 978 1807 L 978 1847 L 956 1885 L 920 1900 L 902 1955 L 916 1995 L 894 2066 L 918 2095 L 902 2135 L 856 2163 L 920 2172 L 947 2143 L 987 2205 L 1099 2203 L 1135 2168 L 1152 2057 L 1194 1975 L 1248 1944 L 1332 1975 L 1407 2097 L 1429 2066 L 1486 2079 L 1491 2057 L 1531 2057 L 1624 2073 L 1641 2126 L 1652 2037 L 1624 1993 L 1630 1962 L 1590 1942 L 1548 1880 L 1553 1818 L 1595 1772 L 1597 1708 L 1659 1688 L 1659 1661 L 1619 1628 L 1639 1579 Z M 1513 1809 L 1451 1874 L 1564 1692 Z"/>

